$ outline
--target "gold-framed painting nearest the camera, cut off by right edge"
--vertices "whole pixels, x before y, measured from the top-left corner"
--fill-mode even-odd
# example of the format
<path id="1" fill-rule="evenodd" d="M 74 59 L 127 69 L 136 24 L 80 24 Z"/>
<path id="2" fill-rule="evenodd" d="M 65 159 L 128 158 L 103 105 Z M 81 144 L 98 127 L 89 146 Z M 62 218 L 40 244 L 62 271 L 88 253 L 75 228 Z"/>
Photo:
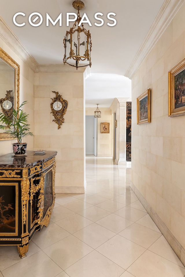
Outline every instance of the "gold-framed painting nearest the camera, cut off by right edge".
<path id="1" fill-rule="evenodd" d="M 168 116 L 185 114 L 185 59 L 168 72 Z"/>

